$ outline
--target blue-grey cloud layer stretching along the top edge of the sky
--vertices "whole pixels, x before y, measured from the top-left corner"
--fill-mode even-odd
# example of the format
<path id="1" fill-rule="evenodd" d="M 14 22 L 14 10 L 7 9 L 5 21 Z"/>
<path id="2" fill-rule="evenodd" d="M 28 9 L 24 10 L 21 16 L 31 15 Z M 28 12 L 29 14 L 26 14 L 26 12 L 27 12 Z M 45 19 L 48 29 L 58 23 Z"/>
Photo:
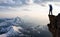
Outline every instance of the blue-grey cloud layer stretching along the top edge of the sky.
<path id="1" fill-rule="evenodd" d="M 0 6 L 22 6 L 26 4 L 32 3 L 43 3 L 45 1 L 52 1 L 52 0 L 0 0 Z M 55 0 L 59 1 L 59 0 Z"/>

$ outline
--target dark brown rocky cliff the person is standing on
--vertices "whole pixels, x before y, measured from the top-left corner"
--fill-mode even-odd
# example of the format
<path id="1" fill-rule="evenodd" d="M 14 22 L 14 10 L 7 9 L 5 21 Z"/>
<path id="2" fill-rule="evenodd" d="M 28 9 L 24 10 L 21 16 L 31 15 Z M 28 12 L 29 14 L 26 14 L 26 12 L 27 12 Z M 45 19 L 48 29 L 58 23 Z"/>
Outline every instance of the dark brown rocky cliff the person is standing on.
<path id="1" fill-rule="evenodd" d="M 60 37 L 60 14 L 49 15 L 50 23 L 47 25 L 53 37 Z"/>

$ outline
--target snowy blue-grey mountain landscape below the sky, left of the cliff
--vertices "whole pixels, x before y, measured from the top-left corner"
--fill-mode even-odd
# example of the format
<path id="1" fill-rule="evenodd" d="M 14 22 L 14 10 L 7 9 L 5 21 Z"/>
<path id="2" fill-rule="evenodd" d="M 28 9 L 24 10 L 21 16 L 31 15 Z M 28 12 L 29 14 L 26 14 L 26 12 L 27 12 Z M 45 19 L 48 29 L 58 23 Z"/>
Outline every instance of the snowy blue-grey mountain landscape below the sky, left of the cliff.
<path id="1" fill-rule="evenodd" d="M 51 37 L 46 25 L 24 22 L 20 17 L 0 18 L 0 37 Z"/>

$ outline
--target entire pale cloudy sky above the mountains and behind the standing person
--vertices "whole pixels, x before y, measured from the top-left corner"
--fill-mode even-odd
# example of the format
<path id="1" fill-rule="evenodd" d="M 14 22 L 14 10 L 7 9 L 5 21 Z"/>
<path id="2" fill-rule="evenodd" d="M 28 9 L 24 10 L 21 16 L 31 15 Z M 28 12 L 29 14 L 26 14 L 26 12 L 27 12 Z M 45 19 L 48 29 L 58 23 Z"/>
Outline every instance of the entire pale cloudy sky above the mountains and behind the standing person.
<path id="1" fill-rule="evenodd" d="M 28 17 L 48 23 L 49 4 L 53 6 L 53 14 L 60 12 L 60 0 L 0 0 L 0 18 Z M 29 20 L 29 19 L 28 19 Z M 45 22 L 46 21 L 46 22 Z"/>

